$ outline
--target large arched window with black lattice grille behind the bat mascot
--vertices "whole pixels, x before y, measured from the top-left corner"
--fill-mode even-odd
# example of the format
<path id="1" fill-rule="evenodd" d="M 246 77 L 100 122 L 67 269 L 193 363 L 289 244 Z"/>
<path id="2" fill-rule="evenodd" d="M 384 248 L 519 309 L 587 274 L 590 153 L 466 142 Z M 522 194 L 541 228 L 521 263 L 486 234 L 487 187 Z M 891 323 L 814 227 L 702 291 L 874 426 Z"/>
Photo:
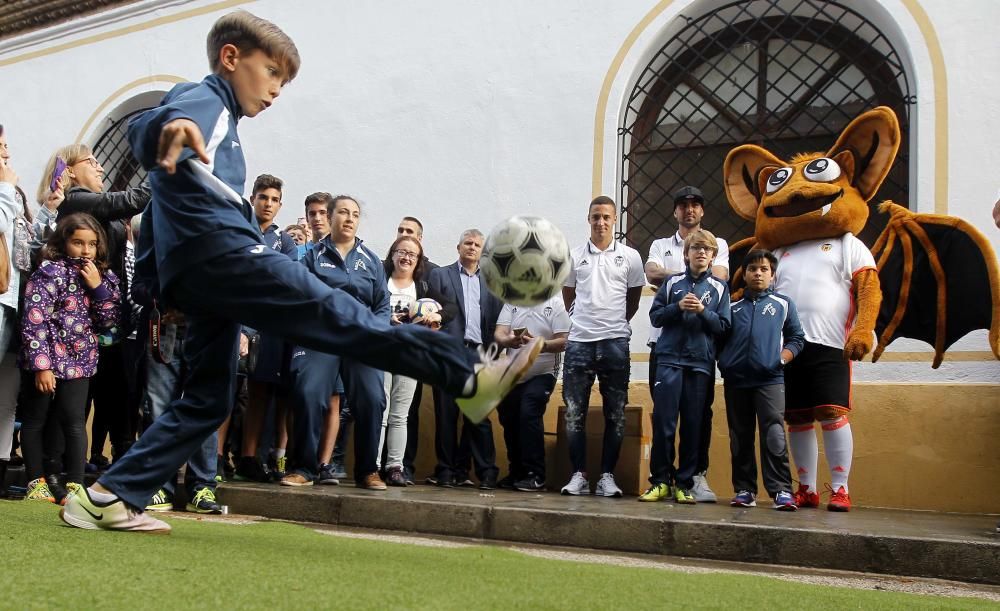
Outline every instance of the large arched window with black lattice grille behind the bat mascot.
<path id="1" fill-rule="evenodd" d="M 734 146 L 753 143 L 782 158 L 825 151 L 874 106 L 892 108 L 903 141 L 870 204 L 867 244 L 884 226 L 875 204 L 908 202 L 910 95 L 889 40 L 838 2 L 751 0 L 726 4 L 686 23 L 653 56 L 629 98 L 619 134 L 619 231 L 646 252 L 675 231 L 672 193 L 705 193 L 705 227 L 730 243 L 753 223 L 729 208 L 722 165 Z M 881 223 L 879 221 L 882 221 Z"/>

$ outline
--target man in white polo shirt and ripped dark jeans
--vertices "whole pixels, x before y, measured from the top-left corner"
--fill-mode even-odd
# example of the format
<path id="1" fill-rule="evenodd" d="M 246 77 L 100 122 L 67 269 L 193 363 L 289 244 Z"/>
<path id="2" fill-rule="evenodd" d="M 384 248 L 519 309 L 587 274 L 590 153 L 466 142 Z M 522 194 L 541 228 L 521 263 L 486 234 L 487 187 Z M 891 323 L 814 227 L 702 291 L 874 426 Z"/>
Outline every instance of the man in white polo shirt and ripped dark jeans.
<path id="1" fill-rule="evenodd" d="M 625 403 L 632 363 L 629 321 L 639 309 L 646 285 L 642 257 L 614 239 L 618 207 L 601 195 L 590 202 L 590 239 L 572 251 L 573 267 L 563 286 L 563 299 L 573 327 L 563 364 L 563 401 L 573 477 L 563 494 L 590 494 L 587 480 L 587 412 L 596 377 L 604 400 L 604 445 L 601 478 L 594 494 L 620 497 L 614 470 L 625 436 Z"/>

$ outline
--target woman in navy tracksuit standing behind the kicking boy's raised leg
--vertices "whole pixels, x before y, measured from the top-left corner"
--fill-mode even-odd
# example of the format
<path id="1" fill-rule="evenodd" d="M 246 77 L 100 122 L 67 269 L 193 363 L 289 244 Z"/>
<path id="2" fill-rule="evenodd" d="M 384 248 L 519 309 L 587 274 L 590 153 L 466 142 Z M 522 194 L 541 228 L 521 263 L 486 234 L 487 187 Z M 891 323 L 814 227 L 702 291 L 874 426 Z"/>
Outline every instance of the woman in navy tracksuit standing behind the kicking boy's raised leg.
<path id="1" fill-rule="evenodd" d="M 327 213 L 330 235 L 306 253 L 303 264 L 324 283 L 348 292 L 388 322 L 389 291 L 382 260 L 357 237 L 361 207 L 354 198 L 340 195 L 327 206 Z M 316 476 L 318 433 L 330 399 L 327 387 L 339 366 L 354 414 L 354 481 L 359 488 L 385 490 L 377 467 L 385 409 L 384 373 L 350 358 L 313 350 L 307 350 L 303 358 L 296 386 L 304 400 L 296 401 L 294 419 L 295 445 L 299 447 L 294 450 L 296 464 L 290 475 L 306 480 L 298 485 L 308 485 Z"/>

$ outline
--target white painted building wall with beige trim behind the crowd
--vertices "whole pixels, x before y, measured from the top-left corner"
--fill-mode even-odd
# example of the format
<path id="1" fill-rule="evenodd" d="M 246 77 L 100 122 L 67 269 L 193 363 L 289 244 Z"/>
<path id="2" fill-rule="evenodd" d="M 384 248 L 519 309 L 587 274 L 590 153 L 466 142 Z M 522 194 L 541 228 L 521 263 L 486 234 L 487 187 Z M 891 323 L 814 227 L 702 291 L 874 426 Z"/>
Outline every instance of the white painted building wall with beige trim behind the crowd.
<path id="1" fill-rule="evenodd" d="M 207 72 L 205 34 L 232 10 L 221 4 L 147 1 L 0 41 L 0 123 L 26 190 L 34 192 L 56 147 L 81 131 L 93 141 L 103 131 L 100 119 L 129 98 L 165 90 L 171 78 L 200 79 Z M 1000 246 L 989 212 L 1000 189 L 1000 46 L 993 31 L 1000 3 L 919 0 L 937 39 L 930 42 L 907 8 L 913 3 L 851 4 L 867 7 L 912 63 L 915 207 L 934 210 L 936 153 L 946 150 L 949 212 Z M 615 130 L 637 71 L 676 30 L 679 15 L 696 15 L 710 3 L 262 0 L 241 6 L 278 23 L 304 60 L 278 103 L 240 127 L 251 179 L 269 172 L 286 181 L 281 223 L 301 214 L 312 191 L 347 192 L 365 204 L 361 234 L 377 250 L 388 246 L 399 217 L 411 214 L 425 223 L 428 254 L 444 263 L 453 260 L 464 228 L 488 230 L 518 212 L 552 219 L 571 242 L 585 239 L 592 183 L 618 192 Z M 946 68 L 945 142 L 935 134 L 935 45 Z M 609 73 L 612 66 L 618 69 Z M 606 111 L 598 117 L 606 75 Z M 95 114 L 98 120 L 88 123 Z M 595 176 L 598 142 L 603 161 Z M 646 331 L 643 316 L 636 319 L 638 347 Z M 987 350 L 984 335 L 962 348 Z M 879 371 L 865 367 L 858 369 Z M 920 367 L 927 379 L 942 379 Z M 958 369 L 973 373 L 949 379 L 1000 379 L 996 362 Z M 873 375 L 910 376 L 885 371 Z"/>

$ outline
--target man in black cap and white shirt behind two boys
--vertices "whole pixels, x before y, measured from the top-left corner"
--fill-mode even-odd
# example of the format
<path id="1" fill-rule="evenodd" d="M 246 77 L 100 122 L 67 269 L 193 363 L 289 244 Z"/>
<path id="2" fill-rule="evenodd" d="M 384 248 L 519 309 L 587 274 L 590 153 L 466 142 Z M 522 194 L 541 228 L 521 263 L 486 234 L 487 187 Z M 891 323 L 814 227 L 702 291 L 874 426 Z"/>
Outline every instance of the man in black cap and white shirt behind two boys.
<path id="1" fill-rule="evenodd" d="M 649 257 L 646 259 L 644 271 L 646 280 L 659 288 L 663 280 L 674 274 L 684 273 L 684 238 L 688 234 L 701 229 L 701 219 L 705 216 L 705 196 L 697 187 L 690 185 L 681 187 L 674 193 L 674 218 L 677 219 L 677 233 L 669 238 L 654 240 L 649 247 Z M 729 280 L 729 244 L 716 236 L 719 253 L 712 264 L 712 275 Z M 655 379 L 656 353 L 653 347 L 660 336 L 660 329 L 653 327 L 649 334 L 649 379 L 650 391 L 652 380 Z M 712 438 L 712 402 L 715 400 L 715 384 L 709 387 L 706 399 L 705 417 L 702 418 L 701 447 L 698 451 L 698 471 L 694 477 L 694 487 L 691 493 L 699 503 L 714 503 L 715 493 L 705 479 L 708 470 L 708 450 Z"/>

